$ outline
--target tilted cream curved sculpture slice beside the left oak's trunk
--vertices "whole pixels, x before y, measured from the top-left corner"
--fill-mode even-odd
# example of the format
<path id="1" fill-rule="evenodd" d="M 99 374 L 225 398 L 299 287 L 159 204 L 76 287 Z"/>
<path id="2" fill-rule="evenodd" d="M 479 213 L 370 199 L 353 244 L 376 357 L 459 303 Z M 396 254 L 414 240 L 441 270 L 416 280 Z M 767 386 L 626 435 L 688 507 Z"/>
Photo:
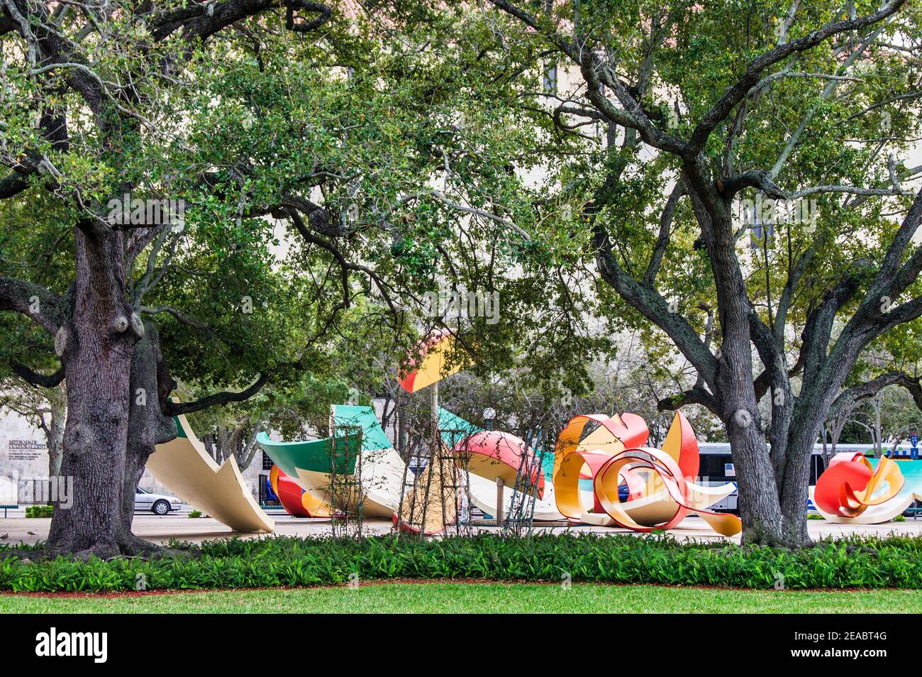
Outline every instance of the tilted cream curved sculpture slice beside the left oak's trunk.
<path id="1" fill-rule="evenodd" d="M 237 459 L 231 456 L 219 466 L 195 437 L 185 416 L 177 416 L 175 421 L 179 434 L 157 445 L 148 457 L 150 474 L 185 503 L 234 531 L 272 532 L 275 522 L 256 504 Z"/>

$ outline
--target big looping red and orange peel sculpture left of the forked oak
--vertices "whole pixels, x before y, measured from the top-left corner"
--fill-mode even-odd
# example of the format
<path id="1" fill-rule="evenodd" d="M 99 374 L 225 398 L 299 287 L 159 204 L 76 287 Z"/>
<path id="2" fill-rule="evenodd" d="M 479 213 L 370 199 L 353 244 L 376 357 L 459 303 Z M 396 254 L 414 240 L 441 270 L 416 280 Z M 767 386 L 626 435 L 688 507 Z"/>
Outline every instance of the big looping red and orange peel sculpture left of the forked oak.
<path id="1" fill-rule="evenodd" d="M 590 422 L 597 429 L 584 437 Z M 694 482 L 698 441 L 684 414 L 676 413 L 662 449 L 645 446 L 648 437 L 646 423 L 634 414 L 573 417 L 558 438 L 554 457 L 561 514 L 573 521 L 634 531 L 672 529 L 696 514 L 719 534 L 738 534 L 739 517 L 707 510 L 733 493 L 735 485 L 705 487 Z M 580 491 L 581 478 L 592 479 L 589 497 Z M 623 502 L 618 493 L 622 484 L 628 490 Z"/>

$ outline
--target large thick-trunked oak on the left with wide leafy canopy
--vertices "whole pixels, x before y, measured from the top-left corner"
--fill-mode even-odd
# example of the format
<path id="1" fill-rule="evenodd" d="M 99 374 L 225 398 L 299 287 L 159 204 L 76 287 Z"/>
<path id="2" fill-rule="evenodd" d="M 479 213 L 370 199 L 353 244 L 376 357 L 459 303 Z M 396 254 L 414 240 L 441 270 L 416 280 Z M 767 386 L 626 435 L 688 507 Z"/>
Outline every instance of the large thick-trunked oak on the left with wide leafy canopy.
<path id="1" fill-rule="evenodd" d="M 566 350 L 529 311 L 566 283 L 526 256 L 533 126 L 486 94 L 482 24 L 391 9 L 0 6 L 0 330 L 67 392 L 48 553 L 150 552 L 132 495 L 171 415 L 335 373 L 331 336 L 400 354 L 451 319 L 420 317 L 440 285 L 502 291 L 502 323 L 454 318 L 484 368 Z M 174 402 L 177 380 L 215 392 Z"/>

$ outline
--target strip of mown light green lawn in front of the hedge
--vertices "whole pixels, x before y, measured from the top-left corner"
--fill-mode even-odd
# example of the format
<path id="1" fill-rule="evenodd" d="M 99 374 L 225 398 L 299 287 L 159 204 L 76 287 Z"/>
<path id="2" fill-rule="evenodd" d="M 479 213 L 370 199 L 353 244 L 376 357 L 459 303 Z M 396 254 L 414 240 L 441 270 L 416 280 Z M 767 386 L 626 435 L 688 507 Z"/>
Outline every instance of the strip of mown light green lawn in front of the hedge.
<path id="1" fill-rule="evenodd" d="M 4 613 L 429 612 L 922 612 L 922 590 L 779 592 L 658 586 L 388 583 L 151 594 L 135 597 L 0 595 Z"/>

